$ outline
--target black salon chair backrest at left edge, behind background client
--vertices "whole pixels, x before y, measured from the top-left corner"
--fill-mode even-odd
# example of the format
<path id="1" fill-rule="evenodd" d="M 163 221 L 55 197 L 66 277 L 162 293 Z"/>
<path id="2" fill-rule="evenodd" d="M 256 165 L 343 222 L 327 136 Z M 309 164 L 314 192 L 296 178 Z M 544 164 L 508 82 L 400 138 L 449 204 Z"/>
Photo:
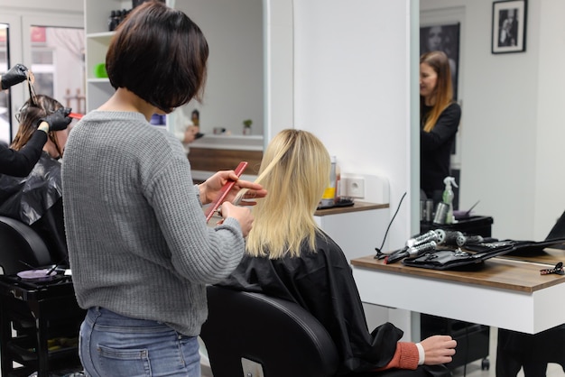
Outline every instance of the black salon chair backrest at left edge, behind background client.
<path id="1" fill-rule="evenodd" d="M 47 246 L 29 225 L 0 216 L 0 267 L 5 275 L 52 263 Z"/>

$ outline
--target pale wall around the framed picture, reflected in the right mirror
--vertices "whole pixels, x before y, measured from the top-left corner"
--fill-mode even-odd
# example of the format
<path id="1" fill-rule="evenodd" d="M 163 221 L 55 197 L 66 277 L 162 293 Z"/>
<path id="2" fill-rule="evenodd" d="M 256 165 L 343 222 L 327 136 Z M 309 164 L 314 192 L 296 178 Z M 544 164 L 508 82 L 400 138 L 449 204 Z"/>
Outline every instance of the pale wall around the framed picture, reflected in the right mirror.
<path id="1" fill-rule="evenodd" d="M 564 26 L 560 0 L 528 2 L 526 51 L 491 53 L 491 0 L 421 0 L 422 17 L 459 8 L 463 101 L 459 207 L 480 199 L 498 238 L 542 240 L 565 210 L 559 173 Z M 560 122 L 561 121 L 561 122 Z"/>

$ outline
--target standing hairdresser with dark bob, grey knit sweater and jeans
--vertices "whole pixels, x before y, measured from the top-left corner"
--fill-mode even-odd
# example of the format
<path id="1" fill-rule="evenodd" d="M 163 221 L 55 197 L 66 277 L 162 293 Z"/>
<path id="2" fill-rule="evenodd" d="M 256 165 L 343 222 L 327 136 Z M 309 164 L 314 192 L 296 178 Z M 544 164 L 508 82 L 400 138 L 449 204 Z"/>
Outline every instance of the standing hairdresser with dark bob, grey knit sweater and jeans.
<path id="1" fill-rule="evenodd" d="M 107 51 L 116 92 L 69 134 L 62 165 L 70 268 L 79 306 L 80 360 L 98 376 L 200 376 L 200 326 L 206 284 L 236 269 L 253 224 L 246 207 L 221 205 L 221 224 L 206 224 L 203 204 L 259 184 L 219 171 L 194 185 L 181 142 L 151 116 L 199 99 L 208 43 L 181 11 L 138 5 Z M 245 203 L 245 204 L 255 204 Z"/>

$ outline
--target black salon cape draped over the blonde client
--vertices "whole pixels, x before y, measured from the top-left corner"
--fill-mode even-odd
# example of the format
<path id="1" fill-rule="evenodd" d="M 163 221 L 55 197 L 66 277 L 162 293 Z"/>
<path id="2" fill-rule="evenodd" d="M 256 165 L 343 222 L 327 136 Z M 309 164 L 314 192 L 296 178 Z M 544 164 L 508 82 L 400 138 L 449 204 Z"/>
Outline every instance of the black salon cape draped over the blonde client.
<path id="1" fill-rule="evenodd" d="M 288 299 L 306 308 L 338 347 L 339 375 L 383 367 L 393 358 L 403 331 L 385 323 L 369 334 L 344 253 L 329 236 L 320 234 L 316 244 L 318 253 L 304 247 L 300 258 L 245 256 L 236 271 L 218 285 Z"/>

